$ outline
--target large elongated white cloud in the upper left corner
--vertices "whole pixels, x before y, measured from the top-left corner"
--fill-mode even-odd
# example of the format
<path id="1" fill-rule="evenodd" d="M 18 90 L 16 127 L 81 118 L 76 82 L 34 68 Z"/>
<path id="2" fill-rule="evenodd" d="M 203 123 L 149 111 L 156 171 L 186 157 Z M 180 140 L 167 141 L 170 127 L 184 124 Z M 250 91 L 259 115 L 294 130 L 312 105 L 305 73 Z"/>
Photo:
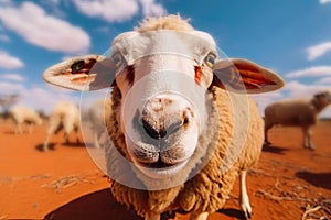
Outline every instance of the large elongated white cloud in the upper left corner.
<path id="1" fill-rule="evenodd" d="M 47 15 L 42 8 L 30 1 L 20 7 L 0 8 L 0 20 L 26 42 L 51 51 L 81 53 L 86 52 L 90 45 L 88 34 L 81 28 Z"/>

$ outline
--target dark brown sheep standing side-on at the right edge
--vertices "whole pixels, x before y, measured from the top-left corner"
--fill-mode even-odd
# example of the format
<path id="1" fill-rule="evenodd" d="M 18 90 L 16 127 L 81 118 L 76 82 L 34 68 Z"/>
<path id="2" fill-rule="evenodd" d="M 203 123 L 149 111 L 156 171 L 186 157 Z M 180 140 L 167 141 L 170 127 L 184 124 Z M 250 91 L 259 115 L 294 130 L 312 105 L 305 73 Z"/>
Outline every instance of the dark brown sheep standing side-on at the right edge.
<path id="1" fill-rule="evenodd" d="M 268 130 L 274 125 L 301 127 L 303 132 L 303 147 L 314 150 L 311 143 L 311 127 L 318 121 L 318 114 L 331 103 L 330 91 L 316 94 L 310 99 L 280 100 L 265 108 L 265 144 Z"/>

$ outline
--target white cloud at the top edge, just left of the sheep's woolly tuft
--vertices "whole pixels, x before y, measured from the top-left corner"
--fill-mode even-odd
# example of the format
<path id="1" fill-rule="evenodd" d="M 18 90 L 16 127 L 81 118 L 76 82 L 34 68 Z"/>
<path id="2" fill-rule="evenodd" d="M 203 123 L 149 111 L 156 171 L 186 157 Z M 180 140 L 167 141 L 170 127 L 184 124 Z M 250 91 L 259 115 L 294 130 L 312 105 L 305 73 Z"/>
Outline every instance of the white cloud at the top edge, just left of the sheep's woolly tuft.
<path id="1" fill-rule="evenodd" d="M 130 20 L 138 14 L 142 7 L 143 15 L 161 15 L 166 9 L 154 0 L 74 0 L 78 10 L 93 18 L 102 18 L 108 22 L 121 22 Z"/>

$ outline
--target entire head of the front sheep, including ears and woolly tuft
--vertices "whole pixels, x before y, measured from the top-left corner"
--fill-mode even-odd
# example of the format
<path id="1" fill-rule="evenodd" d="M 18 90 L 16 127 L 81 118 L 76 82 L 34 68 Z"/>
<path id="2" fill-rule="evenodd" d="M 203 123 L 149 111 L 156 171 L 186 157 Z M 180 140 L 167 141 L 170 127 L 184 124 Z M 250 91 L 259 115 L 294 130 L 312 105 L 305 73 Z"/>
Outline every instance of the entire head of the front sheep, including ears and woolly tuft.
<path id="1" fill-rule="evenodd" d="M 196 151 L 210 120 L 211 87 L 245 94 L 282 86 L 269 69 L 226 58 L 210 34 L 175 15 L 145 20 L 118 35 L 107 56 L 70 59 L 44 79 L 78 90 L 118 87 L 128 160 L 152 179 L 178 174 Z"/>

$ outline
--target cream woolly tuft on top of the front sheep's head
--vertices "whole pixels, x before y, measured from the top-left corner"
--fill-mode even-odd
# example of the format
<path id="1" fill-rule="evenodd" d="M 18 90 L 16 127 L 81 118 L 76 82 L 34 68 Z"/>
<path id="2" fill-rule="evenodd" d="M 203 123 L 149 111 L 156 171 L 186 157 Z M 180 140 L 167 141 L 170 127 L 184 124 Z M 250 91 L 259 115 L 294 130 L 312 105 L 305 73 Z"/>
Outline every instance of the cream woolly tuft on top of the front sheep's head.
<path id="1" fill-rule="evenodd" d="M 146 18 L 135 31 L 143 33 L 148 31 L 173 30 L 173 31 L 194 31 L 189 24 L 190 19 L 182 19 L 179 14 L 157 18 Z"/>

